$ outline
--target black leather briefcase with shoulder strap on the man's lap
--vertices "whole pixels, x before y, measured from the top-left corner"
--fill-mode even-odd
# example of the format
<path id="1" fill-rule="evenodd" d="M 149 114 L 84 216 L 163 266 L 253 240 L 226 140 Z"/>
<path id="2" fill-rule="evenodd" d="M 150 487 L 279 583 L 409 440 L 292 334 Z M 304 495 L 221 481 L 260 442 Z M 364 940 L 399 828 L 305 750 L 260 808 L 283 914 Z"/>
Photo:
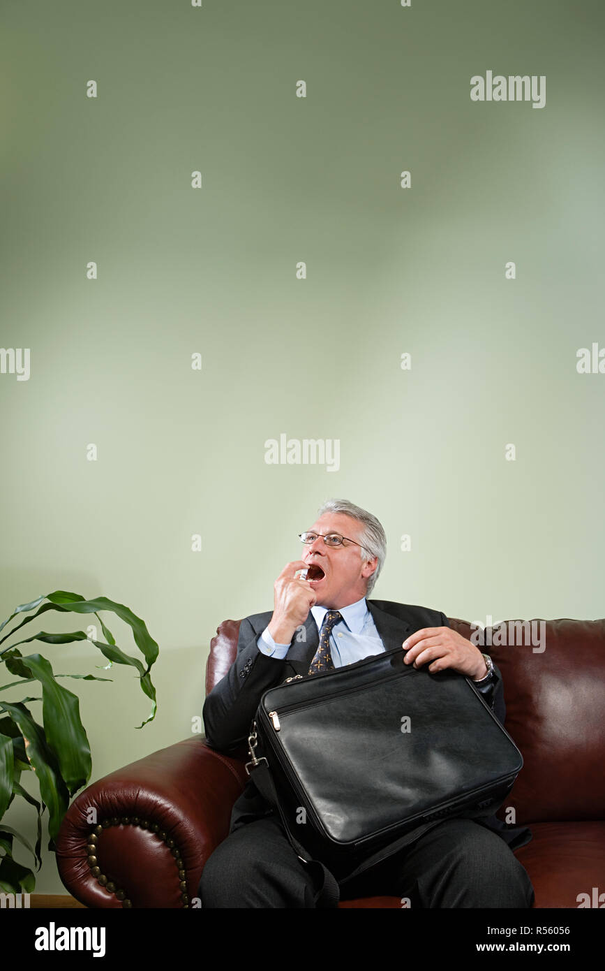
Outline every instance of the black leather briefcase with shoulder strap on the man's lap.
<path id="1" fill-rule="evenodd" d="M 490 816 L 523 757 L 472 682 L 381 653 L 266 691 L 246 766 L 301 859 L 340 881 L 457 816 Z"/>

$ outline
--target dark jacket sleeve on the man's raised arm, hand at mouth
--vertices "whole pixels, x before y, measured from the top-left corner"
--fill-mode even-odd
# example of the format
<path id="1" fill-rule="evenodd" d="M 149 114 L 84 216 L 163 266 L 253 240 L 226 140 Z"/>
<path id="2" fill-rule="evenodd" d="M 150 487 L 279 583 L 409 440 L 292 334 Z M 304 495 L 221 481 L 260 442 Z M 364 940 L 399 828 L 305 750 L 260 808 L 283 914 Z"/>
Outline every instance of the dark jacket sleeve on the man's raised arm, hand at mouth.
<path id="1" fill-rule="evenodd" d="M 245 741 L 263 693 L 287 677 L 285 658 L 259 651 L 259 634 L 249 619 L 241 621 L 236 659 L 207 695 L 203 718 L 207 743 L 213 749 L 229 752 Z"/>

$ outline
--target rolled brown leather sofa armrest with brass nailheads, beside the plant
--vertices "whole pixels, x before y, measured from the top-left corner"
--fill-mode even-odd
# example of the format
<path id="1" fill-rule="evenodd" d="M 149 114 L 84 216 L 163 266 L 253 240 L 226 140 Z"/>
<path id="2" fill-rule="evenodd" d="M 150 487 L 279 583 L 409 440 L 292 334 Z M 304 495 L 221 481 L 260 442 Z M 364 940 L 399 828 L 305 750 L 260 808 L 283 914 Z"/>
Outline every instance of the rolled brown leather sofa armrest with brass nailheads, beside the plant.
<path id="1" fill-rule="evenodd" d="M 87 907 L 188 907 L 245 778 L 241 761 L 200 737 L 111 772 L 61 823 L 63 884 Z"/>

